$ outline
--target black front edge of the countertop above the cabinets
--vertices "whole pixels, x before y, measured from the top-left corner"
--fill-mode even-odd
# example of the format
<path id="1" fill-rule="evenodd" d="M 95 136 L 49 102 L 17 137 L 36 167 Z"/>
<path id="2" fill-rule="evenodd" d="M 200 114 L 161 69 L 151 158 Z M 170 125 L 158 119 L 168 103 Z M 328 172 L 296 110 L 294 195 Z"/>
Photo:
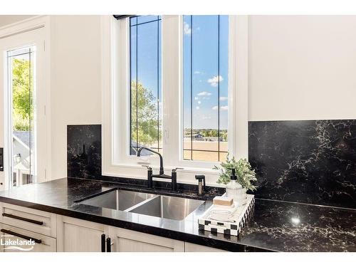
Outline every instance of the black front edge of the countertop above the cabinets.
<path id="1" fill-rule="evenodd" d="M 76 219 L 83 219 L 86 221 L 92 221 L 98 224 L 105 224 L 109 226 L 115 226 L 123 229 L 128 229 L 132 231 L 140 231 L 145 234 L 153 234 L 155 236 L 162 236 L 169 239 L 176 239 L 179 241 L 185 241 L 192 244 L 198 244 L 201 246 L 209 246 L 211 248 L 218 248 L 221 250 L 231 251 L 231 252 L 273 252 L 271 249 L 258 248 L 255 246 L 248 246 L 244 244 L 237 244 L 229 241 L 222 241 L 218 239 L 211 239 L 205 236 L 197 236 L 194 234 L 187 234 L 178 231 L 172 231 L 168 229 L 157 228 L 154 226 L 148 226 L 145 224 L 137 224 L 130 221 L 122 221 L 119 219 L 112 219 L 104 216 L 98 216 L 94 214 L 83 213 L 79 211 L 72 211 L 68 209 L 61 209 L 56 206 L 46 206 L 42 204 L 33 204 L 31 202 L 22 201 L 19 199 L 10 199 L 7 197 L 0 197 L 1 202 L 8 204 L 14 204 L 17 206 L 23 206 L 30 209 L 37 209 L 41 211 L 47 211 L 53 214 L 69 216 Z M 278 252 L 278 251 L 274 251 Z"/>

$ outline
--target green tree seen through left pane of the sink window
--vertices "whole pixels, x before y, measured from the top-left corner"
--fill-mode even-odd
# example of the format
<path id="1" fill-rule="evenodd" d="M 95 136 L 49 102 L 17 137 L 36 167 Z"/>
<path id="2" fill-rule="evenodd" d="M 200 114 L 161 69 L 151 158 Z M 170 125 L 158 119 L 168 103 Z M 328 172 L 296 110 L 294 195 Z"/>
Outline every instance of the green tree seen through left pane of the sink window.
<path id="1" fill-rule="evenodd" d="M 138 145 L 152 146 L 158 137 L 161 140 L 161 131 L 158 132 L 157 125 L 157 105 L 151 90 L 141 83 L 131 82 L 131 138 Z"/>

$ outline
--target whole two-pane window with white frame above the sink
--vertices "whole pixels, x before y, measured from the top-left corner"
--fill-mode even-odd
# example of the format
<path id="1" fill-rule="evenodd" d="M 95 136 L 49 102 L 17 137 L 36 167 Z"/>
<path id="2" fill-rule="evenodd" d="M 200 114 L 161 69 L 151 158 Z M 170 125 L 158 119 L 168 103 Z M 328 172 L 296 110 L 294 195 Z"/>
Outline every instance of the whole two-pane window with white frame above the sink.
<path id="1" fill-rule="evenodd" d="M 228 151 L 246 157 L 246 16 L 103 21 L 103 174 L 145 177 L 159 160 L 137 159 L 141 146 L 186 181 L 197 169 L 216 180 Z"/>

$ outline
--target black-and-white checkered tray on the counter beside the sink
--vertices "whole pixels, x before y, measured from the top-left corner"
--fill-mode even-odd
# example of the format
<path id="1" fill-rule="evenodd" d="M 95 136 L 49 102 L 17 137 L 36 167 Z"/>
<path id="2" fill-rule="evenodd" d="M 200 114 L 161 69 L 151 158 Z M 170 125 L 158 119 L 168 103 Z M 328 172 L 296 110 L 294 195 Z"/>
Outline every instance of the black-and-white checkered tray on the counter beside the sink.
<path id="1" fill-rule="evenodd" d="M 199 229 L 211 231 L 212 233 L 238 236 L 241 229 L 247 223 L 248 219 L 251 218 L 251 214 L 255 206 L 255 197 L 253 194 L 247 194 L 246 204 L 239 206 L 231 217 L 234 222 L 216 221 L 214 219 L 209 219 L 210 211 L 215 206 L 216 205 L 211 205 L 211 207 L 205 211 L 204 214 L 201 215 L 201 217 L 198 219 Z"/>

